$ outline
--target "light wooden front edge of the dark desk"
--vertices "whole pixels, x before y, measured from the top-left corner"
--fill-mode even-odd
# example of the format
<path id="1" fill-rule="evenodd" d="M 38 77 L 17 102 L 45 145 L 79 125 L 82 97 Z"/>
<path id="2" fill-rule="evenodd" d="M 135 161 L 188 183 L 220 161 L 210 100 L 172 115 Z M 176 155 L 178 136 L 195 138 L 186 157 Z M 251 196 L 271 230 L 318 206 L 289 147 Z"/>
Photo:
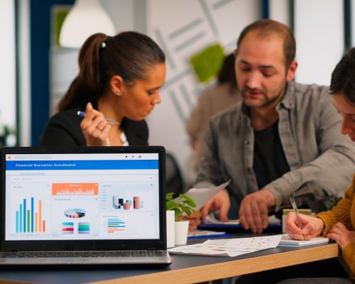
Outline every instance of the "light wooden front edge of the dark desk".
<path id="1" fill-rule="evenodd" d="M 260 255 L 263 254 L 263 255 Z M 285 266 L 294 266 L 301 263 L 320 261 L 327 258 L 336 258 L 339 254 L 337 244 L 326 244 L 321 246 L 304 247 L 302 249 L 276 248 L 251 253 L 242 256 L 230 258 L 226 261 L 189 268 L 172 269 L 160 273 L 150 273 L 146 275 L 131 276 L 129 278 L 120 278 L 115 280 L 105 280 L 96 282 L 97 284 L 119 284 L 119 283 L 197 283 L 209 280 L 217 280 L 238 275 L 267 271 Z M 257 255 L 257 256 L 256 256 Z M 260 255 L 260 256 L 259 256 Z M 253 257 L 251 257 L 253 256 Z M 173 256 L 175 261 L 184 261 L 176 259 L 179 256 Z M 201 258 L 201 256 L 185 256 L 189 258 Z M 184 258 L 185 258 L 184 257 Z M 221 257 L 218 258 L 221 261 Z M 225 260 L 225 259 L 224 259 Z M 190 260 L 191 261 L 191 260 Z M 189 262 L 190 262 L 189 261 Z"/>

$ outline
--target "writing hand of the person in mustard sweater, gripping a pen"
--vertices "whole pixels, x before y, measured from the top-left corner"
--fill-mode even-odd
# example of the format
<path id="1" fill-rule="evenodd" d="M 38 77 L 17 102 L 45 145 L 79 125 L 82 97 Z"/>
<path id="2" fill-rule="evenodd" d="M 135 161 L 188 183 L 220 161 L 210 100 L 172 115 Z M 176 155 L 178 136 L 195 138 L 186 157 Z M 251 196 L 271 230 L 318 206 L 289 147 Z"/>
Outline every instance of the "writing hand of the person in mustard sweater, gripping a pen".
<path id="1" fill-rule="evenodd" d="M 288 213 L 285 231 L 290 235 L 291 238 L 303 240 L 305 237 L 306 240 L 310 240 L 315 236 L 322 234 L 324 229 L 324 223 L 322 219 L 307 216 L 305 214 L 299 214 L 299 217 L 303 225 L 303 230 L 300 228 L 300 226 L 298 226 L 295 212 Z"/>

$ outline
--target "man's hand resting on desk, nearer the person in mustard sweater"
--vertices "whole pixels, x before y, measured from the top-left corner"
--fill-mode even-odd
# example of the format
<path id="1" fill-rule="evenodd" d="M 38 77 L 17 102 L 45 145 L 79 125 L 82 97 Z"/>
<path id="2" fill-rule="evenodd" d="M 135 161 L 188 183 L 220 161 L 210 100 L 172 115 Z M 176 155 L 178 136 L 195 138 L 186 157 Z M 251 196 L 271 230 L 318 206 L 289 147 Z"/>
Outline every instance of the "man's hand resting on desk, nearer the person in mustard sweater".
<path id="1" fill-rule="evenodd" d="M 246 195 L 239 208 L 239 221 L 244 229 L 262 233 L 268 226 L 268 211 L 275 205 L 275 197 L 265 188 Z"/>

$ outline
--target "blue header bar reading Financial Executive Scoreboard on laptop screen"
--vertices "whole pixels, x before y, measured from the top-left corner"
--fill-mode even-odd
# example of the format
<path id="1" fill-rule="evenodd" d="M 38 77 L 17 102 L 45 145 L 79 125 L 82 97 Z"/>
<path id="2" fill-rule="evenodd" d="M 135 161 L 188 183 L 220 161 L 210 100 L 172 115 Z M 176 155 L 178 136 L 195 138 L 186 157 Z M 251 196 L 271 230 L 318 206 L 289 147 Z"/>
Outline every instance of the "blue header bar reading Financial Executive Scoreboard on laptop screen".
<path id="1" fill-rule="evenodd" d="M 158 160 L 6 160 L 6 170 L 158 170 Z"/>

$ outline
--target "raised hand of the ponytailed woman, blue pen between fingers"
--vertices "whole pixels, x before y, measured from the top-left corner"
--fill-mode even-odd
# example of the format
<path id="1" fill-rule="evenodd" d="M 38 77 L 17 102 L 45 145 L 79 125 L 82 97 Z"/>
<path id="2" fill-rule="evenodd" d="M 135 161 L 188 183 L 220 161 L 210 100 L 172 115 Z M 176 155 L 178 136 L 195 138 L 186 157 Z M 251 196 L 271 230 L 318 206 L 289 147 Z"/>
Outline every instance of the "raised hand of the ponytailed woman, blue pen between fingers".
<path id="1" fill-rule="evenodd" d="M 80 127 L 87 141 L 87 146 L 107 146 L 111 126 L 105 120 L 104 114 L 95 110 L 91 103 L 87 104 Z"/>

